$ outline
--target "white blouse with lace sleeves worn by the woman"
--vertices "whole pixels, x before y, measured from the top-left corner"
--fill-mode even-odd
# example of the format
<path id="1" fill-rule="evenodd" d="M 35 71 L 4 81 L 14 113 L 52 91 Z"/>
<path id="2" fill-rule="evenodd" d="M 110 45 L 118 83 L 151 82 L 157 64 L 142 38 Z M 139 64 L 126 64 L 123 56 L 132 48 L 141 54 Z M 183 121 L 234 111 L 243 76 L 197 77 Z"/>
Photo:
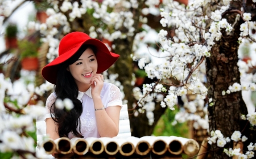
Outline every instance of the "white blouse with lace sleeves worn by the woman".
<path id="1" fill-rule="evenodd" d="M 81 135 L 86 137 L 100 137 L 98 134 L 97 126 L 96 126 L 96 117 L 94 113 L 94 104 L 91 94 L 92 88 L 90 87 L 86 92 L 80 92 L 77 96 L 82 102 L 82 114 L 80 116 L 81 122 Z M 102 91 L 101 91 L 101 100 L 105 108 L 109 106 L 122 106 L 122 98 L 120 89 L 112 83 L 104 83 Z M 44 117 L 44 121 L 47 118 L 51 118 L 50 109 L 52 104 L 56 101 L 56 93 L 53 92 L 49 95 L 46 101 L 46 110 L 47 114 Z M 102 111 L 102 110 L 101 110 Z M 105 110 L 104 110 L 105 111 Z M 52 114 L 52 117 L 55 117 Z M 72 139 L 73 134 L 69 132 L 69 139 Z"/>

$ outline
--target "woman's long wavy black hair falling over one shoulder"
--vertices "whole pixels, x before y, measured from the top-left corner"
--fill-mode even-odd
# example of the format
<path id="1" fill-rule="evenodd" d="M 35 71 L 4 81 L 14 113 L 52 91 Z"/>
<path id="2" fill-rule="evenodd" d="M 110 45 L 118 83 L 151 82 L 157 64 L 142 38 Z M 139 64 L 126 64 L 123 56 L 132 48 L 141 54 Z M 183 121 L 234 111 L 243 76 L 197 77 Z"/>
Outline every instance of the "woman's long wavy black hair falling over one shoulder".
<path id="1" fill-rule="evenodd" d="M 67 70 L 69 65 L 72 65 L 79 59 L 86 49 L 92 49 L 93 53 L 96 55 L 96 47 L 93 45 L 82 45 L 77 52 L 72 55 L 67 61 L 61 63 L 57 71 L 57 79 L 55 84 L 55 93 L 57 95 L 56 99 L 64 100 L 69 98 L 74 105 L 74 108 L 67 111 L 65 109 L 57 109 L 55 103 L 51 106 L 51 114 L 55 114 L 52 117 L 53 121 L 59 126 L 59 136 L 68 137 L 68 133 L 76 137 L 82 137 L 81 135 L 81 122 L 80 115 L 82 114 L 82 102 L 77 99 L 79 89 L 76 82 L 71 75 L 71 72 Z M 52 112 L 53 110 L 53 112 Z"/>

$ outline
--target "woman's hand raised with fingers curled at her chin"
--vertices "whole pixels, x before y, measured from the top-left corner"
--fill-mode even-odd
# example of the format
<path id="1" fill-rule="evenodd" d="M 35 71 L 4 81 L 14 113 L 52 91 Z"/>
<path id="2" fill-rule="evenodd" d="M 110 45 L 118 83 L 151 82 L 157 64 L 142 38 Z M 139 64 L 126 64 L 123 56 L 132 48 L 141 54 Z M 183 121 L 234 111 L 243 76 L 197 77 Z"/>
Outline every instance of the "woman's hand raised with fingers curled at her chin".
<path id="1" fill-rule="evenodd" d="M 92 97 L 100 97 L 101 90 L 104 84 L 104 78 L 101 74 L 93 75 L 93 78 L 91 80 L 92 85 Z"/>

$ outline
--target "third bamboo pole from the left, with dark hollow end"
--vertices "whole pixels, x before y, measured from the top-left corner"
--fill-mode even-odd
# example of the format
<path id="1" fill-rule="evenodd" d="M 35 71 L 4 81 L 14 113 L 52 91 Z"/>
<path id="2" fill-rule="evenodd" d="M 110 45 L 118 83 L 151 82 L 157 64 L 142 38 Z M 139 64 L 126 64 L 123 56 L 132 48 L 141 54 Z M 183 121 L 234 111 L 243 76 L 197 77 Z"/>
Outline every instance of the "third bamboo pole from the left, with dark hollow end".
<path id="1" fill-rule="evenodd" d="M 84 155 L 89 151 L 88 142 L 79 137 L 73 137 L 71 140 L 73 153 Z"/>

